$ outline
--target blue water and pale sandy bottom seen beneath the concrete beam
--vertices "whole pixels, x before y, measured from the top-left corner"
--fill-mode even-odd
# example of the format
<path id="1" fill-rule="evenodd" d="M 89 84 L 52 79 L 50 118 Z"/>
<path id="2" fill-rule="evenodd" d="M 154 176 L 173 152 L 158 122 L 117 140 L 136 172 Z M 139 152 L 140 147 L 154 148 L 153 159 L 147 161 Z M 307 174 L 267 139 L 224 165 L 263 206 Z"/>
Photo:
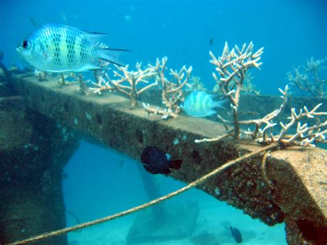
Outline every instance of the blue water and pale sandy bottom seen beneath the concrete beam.
<path id="1" fill-rule="evenodd" d="M 65 168 L 68 175 L 67 179 L 63 180 L 66 209 L 72 211 L 79 218 L 79 222 L 88 222 L 150 201 L 143 188 L 137 164 L 137 161 L 115 150 L 81 141 L 79 150 Z M 148 175 L 159 186 L 161 195 L 185 186 L 184 183 L 164 175 Z M 230 225 L 241 231 L 242 244 L 287 244 L 284 224 L 266 226 L 258 219 L 244 215 L 242 210 L 219 202 L 195 188 L 169 199 L 164 205 L 169 214 L 190 202 L 199 204 L 199 217 L 192 235 L 184 239 L 151 241 L 150 244 L 195 244 L 192 237 L 202 233 L 210 234 L 212 240 L 201 244 L 235 244 L 230 235 Z M 137 215 L 138 213 L 86 228 L 80 233 L 69 233 L 68 242 L 126 244 L 126 236 Z M 67 226 L 77 224 L 77 219 L 70 213 L 67 213 L 66 217 Z M 174 222 L 174 218 L 170 218 Z"/>

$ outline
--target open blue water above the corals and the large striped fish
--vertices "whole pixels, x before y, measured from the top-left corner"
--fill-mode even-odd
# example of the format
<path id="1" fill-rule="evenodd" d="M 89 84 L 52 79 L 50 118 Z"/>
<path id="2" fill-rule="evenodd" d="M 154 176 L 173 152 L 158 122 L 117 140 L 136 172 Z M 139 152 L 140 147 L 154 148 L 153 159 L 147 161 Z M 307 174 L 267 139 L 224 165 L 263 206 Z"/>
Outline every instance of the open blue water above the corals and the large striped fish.
<path id="1" fill-rule="evenodd" d="M 193 66 L 193 74 L 212 88 L 208 51 L 218 56 L 225 41 L 230 46 L 253 41 L 255 48 L 265 48 L 261 71 L 252 70 L 253 82 L 264 94 L 279 94 L 293 65 L 327 56 L 326 9 L 326 0 L 2 0 L 0 49 L 7 65 L 21 61 L 15 48 L 34 30 L 32 17 L 39 25 L 106 32 L 104 43 L 133 51 L 126 63 L 153 63 L 166 55 L 170 68 Z"/>

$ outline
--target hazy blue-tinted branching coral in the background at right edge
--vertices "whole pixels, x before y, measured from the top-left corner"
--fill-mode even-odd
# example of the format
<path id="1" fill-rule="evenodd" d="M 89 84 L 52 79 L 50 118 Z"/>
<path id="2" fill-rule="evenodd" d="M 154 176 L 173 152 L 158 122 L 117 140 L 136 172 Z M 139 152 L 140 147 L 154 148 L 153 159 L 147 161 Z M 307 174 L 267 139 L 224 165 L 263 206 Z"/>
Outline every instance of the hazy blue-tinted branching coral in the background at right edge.
<path id="1" fill-rule="evenodd" d="M 302 69 L 301 66 L 299 66 L 294 68 L 292 72 L 287 72 L 287 79 L 292 86 L 297 87 L 307 95 L 313 97 L 326 97 L 327 79 L 321 79 L 318 76 L 320 70 L 327 68 L 327 66 L 324 66 L 326 61 L 327 57 L 320 60 L 317 59 L 316 61 L 311 57 L 306 62 L 306 66 L 302 67 Z"/>

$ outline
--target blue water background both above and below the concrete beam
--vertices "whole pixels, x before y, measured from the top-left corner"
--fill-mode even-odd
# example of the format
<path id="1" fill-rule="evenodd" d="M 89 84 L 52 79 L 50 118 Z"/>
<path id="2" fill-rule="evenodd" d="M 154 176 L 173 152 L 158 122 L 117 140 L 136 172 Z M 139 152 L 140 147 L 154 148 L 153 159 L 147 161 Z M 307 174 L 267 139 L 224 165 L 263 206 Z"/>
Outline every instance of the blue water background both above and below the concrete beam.
<path id="1" fill-rule="evenodd" d="M 26 66 L 15 49 L 36 26 L 61 23 L 92 32 L 112 48 L 126 48 L 123 57 L 131 66 L 137 61 L 154 63 L 168 57 L 169 67 L 193 67 L 212 88 L 214 67 L 208 51 L 220 55 L 225 41 L 230 46 L 253 41 L 264 47 L 261 70 L 253 71 L 253 84 L 262 94 L 278 95 L 288 83 L 286 72 L 304 65 L 310 57 L 327 57 L 327 1 L 0 1 L 0 50 L 3 62 Z M 211 44 L 211 45 L 210 45 Z M 326 74 L 326 70 L 324 70 Z M 324 76 L 326 77 L 326 75 Z M 65 168 L 63 181 L 66 209 L 79 222 L 104 217 L 148 201 L 137 162 L 120 153 L 81 141 Z M 155 176 L 161 195 L 184 186 Z M 170 208 L 197 201 L 200 216 L 190 239 L 175 244 L 233 244 L 229 226 L 243 235 L 244 244 L 286 244 L 284 225 L 268 227 L 200 190 L 190 190 L 168 201 Z M 77 219 L 67 213 L 67 226 Z M 70 244 L 121 244 L 135 215 L 68 234 Z M 203 235 L 203 237 L 201 237 Z M 198 243 L 197 243 L 198 242 Z M 171 243 L 174 243 L 173 241 Z"/>

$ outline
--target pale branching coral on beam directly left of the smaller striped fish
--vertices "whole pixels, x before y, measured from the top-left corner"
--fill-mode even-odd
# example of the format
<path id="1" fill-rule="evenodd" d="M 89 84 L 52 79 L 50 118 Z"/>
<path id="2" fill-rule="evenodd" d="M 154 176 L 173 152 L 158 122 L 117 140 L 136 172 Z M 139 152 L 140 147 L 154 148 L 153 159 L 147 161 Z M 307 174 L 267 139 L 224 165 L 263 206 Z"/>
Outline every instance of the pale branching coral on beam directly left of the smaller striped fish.
<path id="1" fill-rule="evenodd" d="M 181 70 L 170 69 L 170 79 L 165 75 L 168 58 L 164 57 L 161 60 L 157 59 L 155 66 L 150 68 L 155 72 L 156 81 L 161 86 L 161 99 L 162 103 L 166 106 L 164 110 L 159 108 L 152 108 L 148 104 L 143 104 L 143 107 L 148 113 L 155 113 L 162 115 L 163 118 L 172 117 L 175 118 L 181 112 L 180 104 L 184 101 L 183 88 L 188 84 L 190 74 L 192 72 L 192 66 L 186 68 L 183 66 Z"/>

